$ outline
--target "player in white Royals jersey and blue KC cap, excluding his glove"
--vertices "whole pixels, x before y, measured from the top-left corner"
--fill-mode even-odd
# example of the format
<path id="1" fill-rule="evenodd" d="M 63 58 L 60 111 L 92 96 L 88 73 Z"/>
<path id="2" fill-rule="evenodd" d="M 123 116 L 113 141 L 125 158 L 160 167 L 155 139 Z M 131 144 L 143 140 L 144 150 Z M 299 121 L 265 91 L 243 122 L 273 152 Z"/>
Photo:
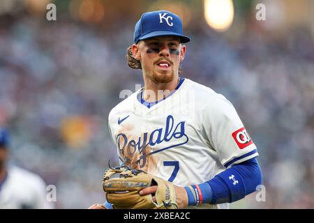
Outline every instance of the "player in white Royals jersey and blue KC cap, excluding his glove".
<path id="1" fill-rule="evenodd" d="M 144 88 L 112 109 L 110 134 L 121 164 L 175 185 L 179 208 L 228 208 L 262 183 L 257 148 L 230 101 L 181 77 L 188 42 L 174 13 L 140 17 L 127 59 L 142 69 Z"/>

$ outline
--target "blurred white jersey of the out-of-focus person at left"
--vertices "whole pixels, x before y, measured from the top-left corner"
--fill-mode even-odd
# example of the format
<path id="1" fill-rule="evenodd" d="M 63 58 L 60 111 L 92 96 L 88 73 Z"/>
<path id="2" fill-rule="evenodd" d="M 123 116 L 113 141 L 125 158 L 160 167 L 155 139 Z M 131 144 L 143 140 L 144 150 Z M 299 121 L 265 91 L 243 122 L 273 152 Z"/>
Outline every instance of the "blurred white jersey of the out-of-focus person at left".
<path id="1" fill-rule="evenodd" d="M 46 185 L 40 176 L 20 167 L 9 167 L 0 190 L 1 209 L 53 208 L 46 200 Z"/>

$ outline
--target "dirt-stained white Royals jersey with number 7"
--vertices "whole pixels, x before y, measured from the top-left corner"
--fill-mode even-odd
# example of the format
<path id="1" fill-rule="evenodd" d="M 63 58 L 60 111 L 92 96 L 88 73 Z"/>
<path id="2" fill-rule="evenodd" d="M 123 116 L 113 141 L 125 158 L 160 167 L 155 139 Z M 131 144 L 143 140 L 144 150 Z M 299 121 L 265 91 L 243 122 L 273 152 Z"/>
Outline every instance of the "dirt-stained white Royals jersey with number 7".
<path id="1" fill-rule="evenodd" d="M 170 95 L 153 104 L 142 100 L 142 91 L 109 114 L 121 163 L 187 186 L 258 155 L 232 104 L 207 86 L 181 78 Z"/>

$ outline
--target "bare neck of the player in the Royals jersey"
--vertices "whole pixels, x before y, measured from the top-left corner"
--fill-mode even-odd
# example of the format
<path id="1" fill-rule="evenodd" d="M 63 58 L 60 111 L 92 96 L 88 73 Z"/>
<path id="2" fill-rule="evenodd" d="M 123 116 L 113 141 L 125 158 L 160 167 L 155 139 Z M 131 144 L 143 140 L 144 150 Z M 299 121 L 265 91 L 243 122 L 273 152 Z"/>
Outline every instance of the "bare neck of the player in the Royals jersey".
<path id="1" fill-rule="evenodd" d="M 143 99 L 147 102 L 155 102 L 167 97 L 179 84 L 179 77 L 176 76 L 168 83 L 156 83 L 150 78 L 144 78 Z"/>

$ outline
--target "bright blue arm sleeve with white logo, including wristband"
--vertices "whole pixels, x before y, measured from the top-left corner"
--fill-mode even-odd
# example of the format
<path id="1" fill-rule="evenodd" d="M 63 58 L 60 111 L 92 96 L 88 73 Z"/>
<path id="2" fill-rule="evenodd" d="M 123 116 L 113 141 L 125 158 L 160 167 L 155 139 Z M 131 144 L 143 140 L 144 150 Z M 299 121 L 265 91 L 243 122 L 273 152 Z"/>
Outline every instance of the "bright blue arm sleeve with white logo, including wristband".
<path id="1" fill-rule="evenodd" d="M 234 164 L 213 179 L 200 185 L 184 187 L 188 193 L 188 205 L 200 203 L 231 203 L 255 192 L 262 184 L 262 171 L 256 158 Z M 198 192 L 197 192 L 198 191 Z"/>

